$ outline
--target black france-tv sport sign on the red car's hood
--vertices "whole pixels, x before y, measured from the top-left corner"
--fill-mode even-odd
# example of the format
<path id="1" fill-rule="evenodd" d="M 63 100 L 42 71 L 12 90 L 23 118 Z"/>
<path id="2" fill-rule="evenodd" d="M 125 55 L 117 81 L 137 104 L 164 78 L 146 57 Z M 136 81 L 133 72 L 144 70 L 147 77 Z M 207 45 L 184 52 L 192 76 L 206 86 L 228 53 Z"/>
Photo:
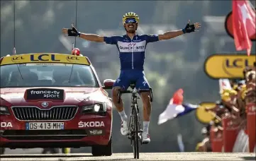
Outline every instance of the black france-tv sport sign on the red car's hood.
<path id="1" fill-rule="evenodd" d="M 52 88 L 34 88 L 26 90 L 26 100 L 64 100 L 64 90 Z"/>

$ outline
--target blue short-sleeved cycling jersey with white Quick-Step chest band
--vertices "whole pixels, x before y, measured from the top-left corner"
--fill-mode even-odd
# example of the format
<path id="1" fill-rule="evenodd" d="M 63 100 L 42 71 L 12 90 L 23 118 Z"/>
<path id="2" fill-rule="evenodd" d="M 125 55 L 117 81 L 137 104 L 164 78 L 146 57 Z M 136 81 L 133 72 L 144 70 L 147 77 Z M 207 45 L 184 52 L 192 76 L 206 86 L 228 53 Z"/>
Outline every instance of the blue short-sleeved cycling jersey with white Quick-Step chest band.
<path id="1" fill-rule="evenodd" d="M 145 49 L 149 42 L 159 41 L 158 35 L 128 35 L 104 37 L 106 44 L 116 44 L 119 51 L 121 71 L 126 69 L 144 70 Z"/>

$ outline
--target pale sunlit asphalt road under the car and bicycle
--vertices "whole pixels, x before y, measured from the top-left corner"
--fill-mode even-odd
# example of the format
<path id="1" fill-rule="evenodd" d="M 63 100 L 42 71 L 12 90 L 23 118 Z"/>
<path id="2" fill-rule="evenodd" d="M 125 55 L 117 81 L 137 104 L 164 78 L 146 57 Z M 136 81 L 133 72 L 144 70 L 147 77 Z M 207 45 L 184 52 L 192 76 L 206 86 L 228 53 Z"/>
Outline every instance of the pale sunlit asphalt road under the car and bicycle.
<path id="1" fill-rule="evenodd" d="M 115 153 L 110 157 L 92 157 L 87 153 L 71 153 L 67 155 L 1 155 L 6 160 L 135 160 L 133 153 Z M 255 153 L 140 153 L 139 160 L 255 160 Z"/>

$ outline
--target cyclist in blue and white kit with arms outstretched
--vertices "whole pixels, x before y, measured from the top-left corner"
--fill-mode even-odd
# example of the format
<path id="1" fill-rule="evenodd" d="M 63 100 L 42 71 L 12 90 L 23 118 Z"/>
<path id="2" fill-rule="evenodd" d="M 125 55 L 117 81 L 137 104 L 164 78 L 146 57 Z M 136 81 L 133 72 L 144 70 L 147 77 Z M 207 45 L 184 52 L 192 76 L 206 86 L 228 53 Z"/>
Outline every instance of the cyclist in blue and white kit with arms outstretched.
<path id="1" fill-rule="evenodd" d="M 149 89 L 150 85 L 145 78 L 144 59 L 145 48 L 150 42 L 160 40 L 169 40 L 184 33 L 194 32 L 201 27 L 200 23 L 187 23 L 182 30 L 169 31 L 161 35 L 137 35 L 139 16 L 136 13 L 129 12 L 123 16 L 123 27 L 126 29 L 126 35 L 104 37 L 94 34 L 78 32 L 74 26 L 71 29 L 63 28 L 62 32 L 68 36 L 80 37 L 91 42 L 106 42 L 106 44 L 115 44 L 118 47 L 119 58 L 121 62 L 121 73 L 116 82 L 113 84 L 113 104 L 116 106 L 118 113 L 121 116 L 121 133 L 128 134 L 128 118 L 123 109 L 122 100 L 118 103 L 118 89 L 127 90 L 131 82 L 135 82 L 136 89 Z M 143 101 L 143 143 L 150 143 L 150 135 L 148 127 L 150 124 L 151 103 L 150 92 L 141 93 Z"/>

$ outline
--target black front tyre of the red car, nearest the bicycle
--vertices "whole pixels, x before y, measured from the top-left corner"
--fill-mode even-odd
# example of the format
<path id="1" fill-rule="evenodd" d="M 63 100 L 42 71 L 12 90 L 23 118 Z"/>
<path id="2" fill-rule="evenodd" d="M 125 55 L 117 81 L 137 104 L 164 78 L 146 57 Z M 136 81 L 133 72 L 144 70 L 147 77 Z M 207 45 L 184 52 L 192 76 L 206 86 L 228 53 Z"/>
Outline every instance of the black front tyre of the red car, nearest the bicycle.
<path id="1" fill-rule="evenodd" d="M 108 142 L 108 145 L 92 146 L 91 154 L 94 156 L 111 156 L 112 155 L 112 136 Z"/>

